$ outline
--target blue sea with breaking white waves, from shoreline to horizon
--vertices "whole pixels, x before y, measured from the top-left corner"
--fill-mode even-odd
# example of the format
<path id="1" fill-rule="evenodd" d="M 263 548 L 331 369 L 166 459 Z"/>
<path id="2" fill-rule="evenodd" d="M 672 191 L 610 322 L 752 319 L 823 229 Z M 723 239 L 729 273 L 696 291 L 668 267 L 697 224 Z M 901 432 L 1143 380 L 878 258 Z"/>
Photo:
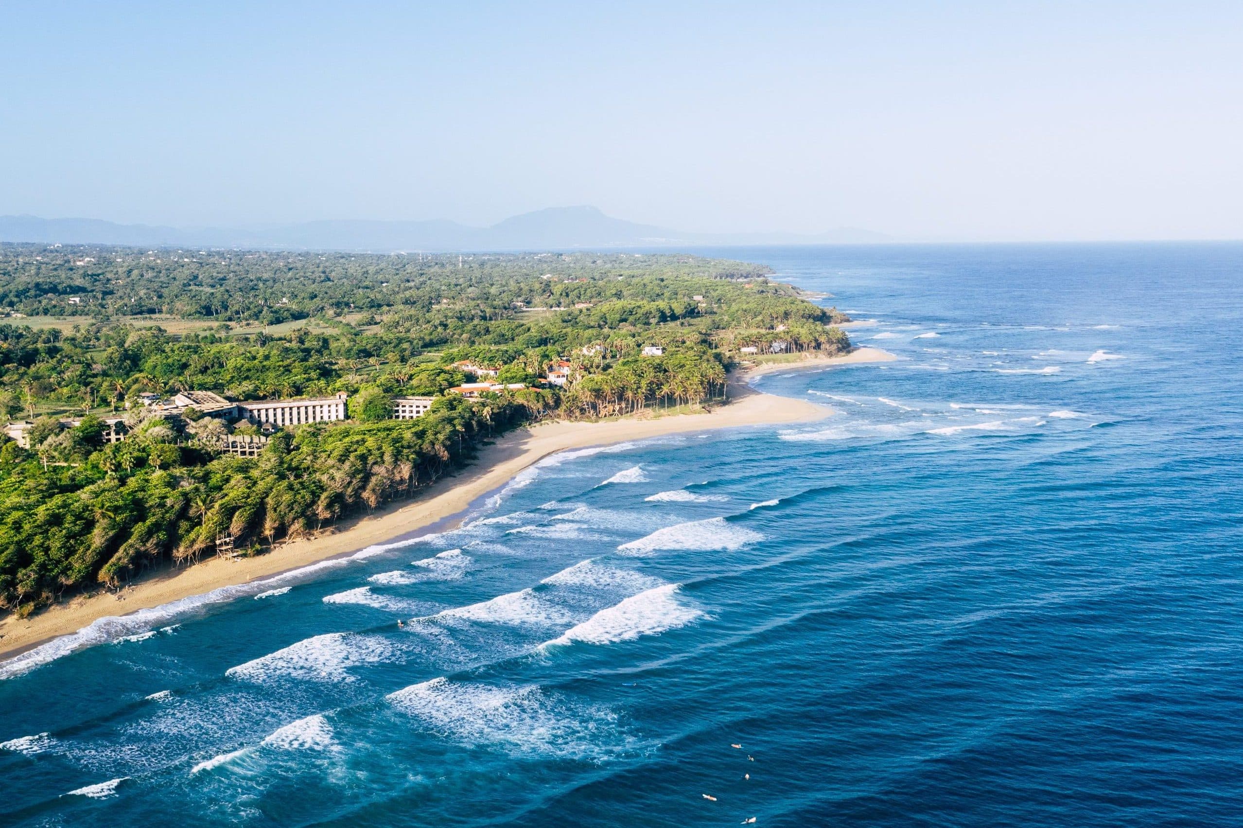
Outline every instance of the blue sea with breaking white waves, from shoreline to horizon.
<path id="1" fill-rule="evenodd" d="M 1243 823 L 1243 246 L 709 252 L 900 359 L 0 666 L 0 823 Z"/>

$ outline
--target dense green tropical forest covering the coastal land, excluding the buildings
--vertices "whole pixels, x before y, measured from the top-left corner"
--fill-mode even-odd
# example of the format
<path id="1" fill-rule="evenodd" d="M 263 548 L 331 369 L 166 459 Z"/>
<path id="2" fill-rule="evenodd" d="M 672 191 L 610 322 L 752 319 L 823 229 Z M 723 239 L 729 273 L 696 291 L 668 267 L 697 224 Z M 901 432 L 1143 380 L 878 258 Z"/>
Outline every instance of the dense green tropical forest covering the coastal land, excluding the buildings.
<path id="1" fill-rule="evenodd" d="M 119 587 L 222 536 L 262 552 L 410 496 L 541 418 L 705 404 L 745 353 L 850 347 L 832 327 L 845 317 L 768 272 L 675 255 L 0 245 L 0 418 L 32 423 L 27 449 L 0 436 L 0 610 Z M 474 379 L 461 361 L 525 387 L 446 393 Z M 541 382 L 567 363 L 563 387 Z M 344 392 L 351 419 L 231 456 L 222 438 L 254 425 L 138 404 L 184 390 Z M 435 403 L 393 420 L 394 395 Z M 109 444 L 103 418 L 122 414 Z"/>

